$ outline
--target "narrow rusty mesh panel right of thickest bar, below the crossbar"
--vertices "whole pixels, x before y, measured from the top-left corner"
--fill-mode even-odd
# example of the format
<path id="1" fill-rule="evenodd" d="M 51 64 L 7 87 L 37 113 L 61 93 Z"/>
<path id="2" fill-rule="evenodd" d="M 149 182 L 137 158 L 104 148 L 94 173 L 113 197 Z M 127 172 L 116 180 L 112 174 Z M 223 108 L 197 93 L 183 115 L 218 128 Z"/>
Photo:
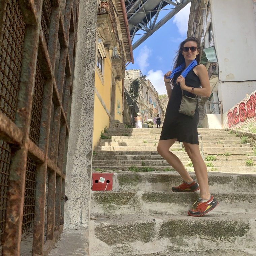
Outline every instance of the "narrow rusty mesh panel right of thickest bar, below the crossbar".
<path id="1" fill-rule="evenodd" d="M 28 157 L 23 206 L 22 231 L 32 228 L 35 212 L 36 163 Z"/>

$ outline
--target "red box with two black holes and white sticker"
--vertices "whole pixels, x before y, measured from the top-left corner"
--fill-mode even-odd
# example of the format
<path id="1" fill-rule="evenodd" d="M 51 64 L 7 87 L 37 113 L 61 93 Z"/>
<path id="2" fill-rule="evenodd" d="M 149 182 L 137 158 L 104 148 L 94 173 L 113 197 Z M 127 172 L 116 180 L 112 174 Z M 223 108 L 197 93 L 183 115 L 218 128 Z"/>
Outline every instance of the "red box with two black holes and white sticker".
<path id="1" fill-rule="evenodd" d="M 92 190 L 93 191 L 111 191 L 113 189 L 114 173 L 93 173 Z"/>

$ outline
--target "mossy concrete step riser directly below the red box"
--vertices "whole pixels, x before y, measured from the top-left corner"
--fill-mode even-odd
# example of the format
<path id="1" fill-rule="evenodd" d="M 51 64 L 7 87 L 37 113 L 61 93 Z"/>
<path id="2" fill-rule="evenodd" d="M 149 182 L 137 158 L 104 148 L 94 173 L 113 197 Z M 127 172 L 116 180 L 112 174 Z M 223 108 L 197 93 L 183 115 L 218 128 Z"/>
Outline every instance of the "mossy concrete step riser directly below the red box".
<path id="1" fill-rule="evenodd" d="M 255 192 L 212 193 L 212 195 L 219 201 L 219 206 L 215 212 L 220 214 L 255 214 Z M 183 215 L 199 197 L 199 191 L 194 193 L 93 191 L 91 214 Z"/>

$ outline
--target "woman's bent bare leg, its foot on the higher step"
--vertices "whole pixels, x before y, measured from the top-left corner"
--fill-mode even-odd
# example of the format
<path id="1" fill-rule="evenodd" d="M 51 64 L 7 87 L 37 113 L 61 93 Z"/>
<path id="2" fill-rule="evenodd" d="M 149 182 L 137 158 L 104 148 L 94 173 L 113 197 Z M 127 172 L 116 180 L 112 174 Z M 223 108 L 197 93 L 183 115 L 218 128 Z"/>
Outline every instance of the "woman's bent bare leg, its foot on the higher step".
<path id="1" fill-rule="evenodd" d="M 172 152 L 170 152 L 170 147 L 177 139 L 166 139 L 166 140 L 159 140 L 157 146 L 157 152 L 161 155 L 175 170 L 177 170 L 182 179 L 187 182 L 193 182 L 193 179 L 187 172 L 186 168 L 184 167 L 181 160 L 175 156 Z"/>

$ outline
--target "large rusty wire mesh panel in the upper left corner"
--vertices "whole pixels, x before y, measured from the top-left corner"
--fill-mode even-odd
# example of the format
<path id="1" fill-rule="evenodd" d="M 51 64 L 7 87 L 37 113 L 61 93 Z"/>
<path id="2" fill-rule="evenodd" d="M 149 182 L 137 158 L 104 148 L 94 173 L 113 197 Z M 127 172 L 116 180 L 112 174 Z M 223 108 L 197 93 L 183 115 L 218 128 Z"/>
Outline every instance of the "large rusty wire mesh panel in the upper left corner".
<path id="1" fill-rule="evenodd" d="M 9 1 L 0 34 L 0 110 L 12 121 L 20 88 L 25 26 L 18 3 Z"/>

